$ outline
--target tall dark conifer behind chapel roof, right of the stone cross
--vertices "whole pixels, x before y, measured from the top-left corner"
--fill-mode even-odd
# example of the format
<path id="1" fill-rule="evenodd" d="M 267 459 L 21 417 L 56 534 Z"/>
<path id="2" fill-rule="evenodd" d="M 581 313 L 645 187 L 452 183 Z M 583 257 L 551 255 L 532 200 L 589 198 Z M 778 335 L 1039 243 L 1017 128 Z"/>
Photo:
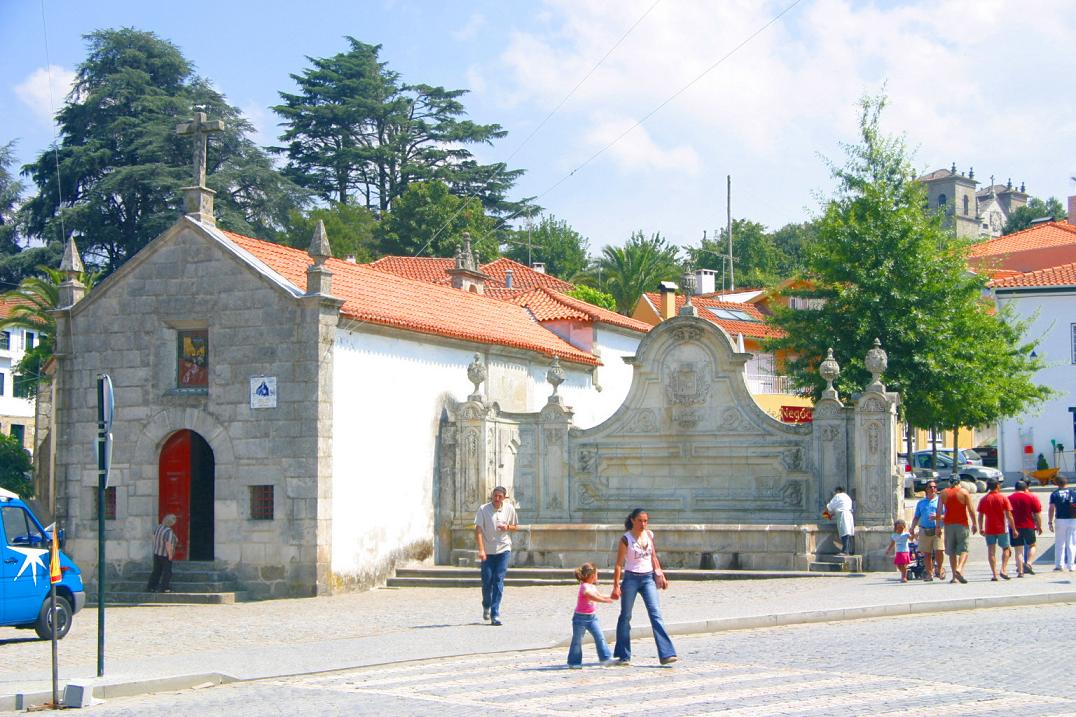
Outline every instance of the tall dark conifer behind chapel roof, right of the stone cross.
<path id="1" fill-rule="evenodd" d="M 380 60 L 381 45 L 345 39 L 346 52 L 308 57 L 311 67 L 291 75 L 299 92 L 280 93 L 283 103 L 273 108 L 284 126 L 277 151 L 296 182 L 326 201 L 358 198 L 378 214 L 410 184 L 435 179 L 490 211 L 521 208 L 505 194 L 522 170 L 480 165 L 466 146 L 507 135 L 463 118 L 467 90 L 406 84 Z"/>

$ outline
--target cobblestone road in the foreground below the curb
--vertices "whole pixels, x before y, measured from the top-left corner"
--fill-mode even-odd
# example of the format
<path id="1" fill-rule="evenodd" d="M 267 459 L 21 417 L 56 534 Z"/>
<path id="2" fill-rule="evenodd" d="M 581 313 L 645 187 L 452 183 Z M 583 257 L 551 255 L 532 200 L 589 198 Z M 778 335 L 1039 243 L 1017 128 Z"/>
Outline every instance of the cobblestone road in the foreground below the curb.
<path id="1" fill-rule="evenodd" d="M 562 616 L 563 618 L 563 616 Z M 1061 717 L 1070 697 L 1074 605 L 1044 605 L 679 637 L 657 665 L 564 667 L 565 650 L 397 663 L 117 699 L 87 715 L 960 715 Z M 566 628 L 567 621 L 561 620 Z M 925 636 L 945 644 L 928 648 Z M 948 642 L 953 641 L 953 642 Z M 926 679 L 920 675 L 926 673 Z"/>

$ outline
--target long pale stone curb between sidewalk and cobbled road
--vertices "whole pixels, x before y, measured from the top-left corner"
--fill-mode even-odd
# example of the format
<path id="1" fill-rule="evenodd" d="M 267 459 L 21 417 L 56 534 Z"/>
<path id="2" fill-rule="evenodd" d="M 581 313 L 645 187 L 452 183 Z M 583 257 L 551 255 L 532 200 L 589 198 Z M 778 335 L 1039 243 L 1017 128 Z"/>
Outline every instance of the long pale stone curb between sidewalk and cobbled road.
<path id="1" fill-rule="evenodd" d="M 692 635 L 717 632 L 728 632 L 734 630 L 753 630 L 758 628 L 776 628 L 780 625 L 809 624 L 813 622 L 836 622 L 844 620 L 863 620 L 881 617 L 896 617 L 902 615 L 922 615 L 929 613 L 954 611 L 983 609 L 993 607 L 1014 607 L 1018 605 L 1046 605 L 1051 603 L 1076 603 L 1076 590 L 1067 592 L 1032 593 L 1020 595 L 996 595 L 986 598 L 962 598 L 954 600 L 930 600 L 914 603 L 893 603 L 888 605 L 862 605 L 853 607 L 838 607 L 833 609 L 802 610 L 798 613 L 777 613 L 773 615 L 753 615 L 735 618 L 714 618 L 712 620 L 695 620 L 691 622 L 675 622 L 667 625 L 669 634 Z M 615 630 L 605 630 L 607 639 L 615 639 Z M 634 637 L 650 637 L 653 635 L 649 625 L 633 629 Z M 496 651 L 534 651 L 551 648 L 567 648 L 571 643 L 569 639 L 556 641 L 551 644 L 532 645 L 518 647 L 512 650 Z M 475 655 L 473 651 L 452 652 L 439 655 L 443 657 L 464 657 Z M 423 660 L 421 656 L 405 660 L 414 662 Z M 88 706 L 91 700 L 105 700 L 121 697 L 138 697 L 153 694 L 156 692 L 167 692 L 174 690 L 192 689 L 199 686 L 216 686 L 232 683 L 256 681 L 258 679 L 272 679 L 283 677 L 297 677 L 301 675 L 327 674 L 343 670 L 353 670 L 359 666 L 369 667 L 384 664 L 394 664 L 400 660 L 390 660 L 383 663 L 368 663 L 363 665 L 342 665 L 330 670 L 313 670 L 303 673 L 280 673 L 277 675 L 261 675 L 258 677 L 235 677 L 223 673 L 201 673 L 192 675 L 172 675 L 165 677 L 152 677 L 145 679 L 130 679 L 122 681 L 116 678 L 74 678 L 62 686 L 63 702 L 66 706 L 82 707 Z M 69 699 L 70 698 L 70 699 Z M 0 695 L 0 709 L 15 711 L 26 709 L 33 704 L 42 704 L 52 699 L 52 692 L 17 692 L 15 694 Z"/>

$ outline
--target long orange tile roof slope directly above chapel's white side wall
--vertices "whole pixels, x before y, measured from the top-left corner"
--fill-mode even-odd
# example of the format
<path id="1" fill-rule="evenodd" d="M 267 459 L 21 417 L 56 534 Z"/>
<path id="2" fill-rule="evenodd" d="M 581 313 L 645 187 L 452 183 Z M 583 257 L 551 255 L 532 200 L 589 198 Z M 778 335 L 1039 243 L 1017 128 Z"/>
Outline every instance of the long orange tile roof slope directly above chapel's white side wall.
<path id="1" fill-rule="evenodd" d="M 297 289 L 306 291 L 307 267 L 313 264 L 307 252 L 230 231 L 222 234 Z M 578 364 L 599 363 L 593 355 L 543 328 L 513 304 L 451 286 L 419 283 L 342 259 L 330 258 L 325 267 L 332 272 L 331 294 L 344 301 L 340 314 L 349 319 L 478 343 L 526 349 Z"/>

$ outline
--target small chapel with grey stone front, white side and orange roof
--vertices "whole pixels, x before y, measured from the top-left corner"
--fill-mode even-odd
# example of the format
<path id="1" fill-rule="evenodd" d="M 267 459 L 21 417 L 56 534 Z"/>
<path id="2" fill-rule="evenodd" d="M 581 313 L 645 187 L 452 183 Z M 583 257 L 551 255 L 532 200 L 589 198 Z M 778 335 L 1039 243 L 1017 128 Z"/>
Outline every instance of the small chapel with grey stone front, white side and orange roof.
<path id="1" fill-rule="evenodd" d="M 89 574 L 99 374 L 115 397 L 109 568 L 147 565 L 145 536 L 174 514 L 179 560 L 252 596 L 312 595 L 374 585 L 397 561 L 430 554 L 448 406 L 496 396 L 499 410 L 537 412 L 552 375 L 575 424 L 593 425 L 614 409 L 621 357 L 648 328 L 507 261 L 359 265 L 332 258 L 321 227 L 301 251 L 222 230 L 204 187 L 186 200 L 183 217 L 88 294 L 73 243 L 65 255 L 42 462 L 54 468 L 38 484 Z M 485 282 L 506 296 L 486 295 Z M 483 435 L 473 448 L 511 461 L 513 440 Z M 477 508 L 490 489 L 459 500 Z"/>

